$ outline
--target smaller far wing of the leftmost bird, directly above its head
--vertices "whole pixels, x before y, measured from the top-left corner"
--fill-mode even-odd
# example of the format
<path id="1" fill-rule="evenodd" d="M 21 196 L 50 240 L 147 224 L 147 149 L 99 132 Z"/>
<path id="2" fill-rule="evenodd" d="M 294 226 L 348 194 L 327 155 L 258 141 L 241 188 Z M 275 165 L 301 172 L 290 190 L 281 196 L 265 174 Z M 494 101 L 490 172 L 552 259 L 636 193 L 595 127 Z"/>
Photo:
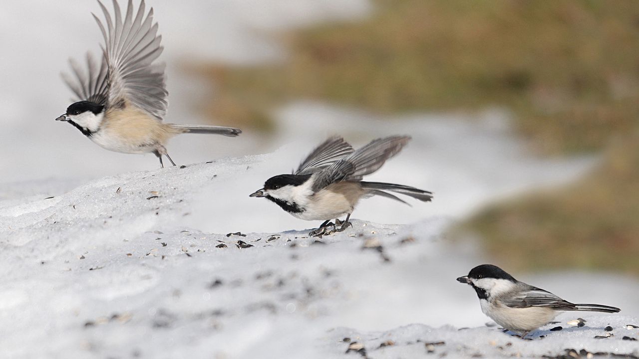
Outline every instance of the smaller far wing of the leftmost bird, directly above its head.
<path id="1" fill-rule="evenodd" d="M 102 61 L 100 61 L 100 66 L 98 67 L 91 52 L 87 52 L 86 71 L 83 70 L 82 66 L 74 59 L 69 59 L 69 63 L 73 73 L 70 75 L 63 72 L 62 79 L 75 95 L 73 102 L 88 100 L 100 105 L 107 103 L 108 66 L 106 59 L 102 57 Z"/>

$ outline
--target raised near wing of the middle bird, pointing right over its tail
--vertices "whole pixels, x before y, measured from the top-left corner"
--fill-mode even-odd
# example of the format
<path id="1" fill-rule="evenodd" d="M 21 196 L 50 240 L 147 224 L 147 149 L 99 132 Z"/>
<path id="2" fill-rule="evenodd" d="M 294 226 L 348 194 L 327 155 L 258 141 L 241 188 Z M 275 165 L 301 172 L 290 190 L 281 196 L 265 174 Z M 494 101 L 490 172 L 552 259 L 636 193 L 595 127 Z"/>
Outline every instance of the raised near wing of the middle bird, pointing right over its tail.
<path id="1" fill-rule="evenodd" d="M 339 181 L 360 181 L 363 176 L 377 171 L 384 162 L 397 155 L 408 141 L 410 141 L 408 136 L 375 139 L 347 157 L 318 171 L 312 189 L 319 190 Z"/>

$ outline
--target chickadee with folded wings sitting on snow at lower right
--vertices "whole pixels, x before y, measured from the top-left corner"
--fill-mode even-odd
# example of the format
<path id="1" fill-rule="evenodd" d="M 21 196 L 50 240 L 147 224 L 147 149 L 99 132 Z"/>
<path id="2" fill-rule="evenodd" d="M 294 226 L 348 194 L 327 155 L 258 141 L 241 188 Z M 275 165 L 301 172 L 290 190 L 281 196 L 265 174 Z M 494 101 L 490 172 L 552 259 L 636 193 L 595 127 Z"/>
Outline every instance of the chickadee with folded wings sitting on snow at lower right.
<path id="1" fill-rule="evenodd" d="M 498 325 L 512 332 L 528 332 L 550 323 L 562 310 L 587 310 L 616 313 L 619 308 L 599 304 L 573 304 L 549 291 L 520 282 L 498 266 L 482 264 L 457 279 L 469 284 L 477 296 L 481 311 Z"/>

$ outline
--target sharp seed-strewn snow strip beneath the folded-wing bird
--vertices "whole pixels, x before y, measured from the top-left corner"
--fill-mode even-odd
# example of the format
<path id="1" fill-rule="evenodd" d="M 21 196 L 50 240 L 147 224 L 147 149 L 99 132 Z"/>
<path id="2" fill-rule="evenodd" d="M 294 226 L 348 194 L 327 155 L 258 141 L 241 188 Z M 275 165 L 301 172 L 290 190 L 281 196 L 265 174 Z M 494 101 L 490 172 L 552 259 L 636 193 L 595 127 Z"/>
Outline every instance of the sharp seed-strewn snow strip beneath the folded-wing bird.
<path id="1" fill-rule="evenodd" d="M 597 316 L 581 328 L 555 323 L 525 340 L 486 327 L 433 328 L 413 324 L 369 333 L 337 328 L 329 332 L 323 349 L 335 358 L 344 353 L 378 359 L 421 358 L 427 354 L 437 358 L 639 358 L 639 329 L 626 328 L 625 323 L 629 322 L 636 324 L 636 318 Z"/>

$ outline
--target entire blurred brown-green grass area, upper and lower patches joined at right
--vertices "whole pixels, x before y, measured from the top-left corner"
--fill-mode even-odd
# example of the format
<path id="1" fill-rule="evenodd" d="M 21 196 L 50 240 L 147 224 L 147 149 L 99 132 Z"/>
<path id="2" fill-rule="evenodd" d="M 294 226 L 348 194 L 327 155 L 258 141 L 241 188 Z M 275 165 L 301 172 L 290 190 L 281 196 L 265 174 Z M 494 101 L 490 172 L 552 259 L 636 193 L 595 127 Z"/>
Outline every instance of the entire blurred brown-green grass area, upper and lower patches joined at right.
<path id="1" fill-rule="evenodd" d="M 639 254 L 639 1 L 373 3 L 367 19 L 281 34 L 282 63 L 198 66 L 217 88 L 206 113 L 272 130 L 272 109 L 297 99 L 382 114 L 506 107 L 537 153 L 608 155 L 577 187 L 497 204 L 468 225 L 512 266 L 639 273 L 615 257 Z"/>

